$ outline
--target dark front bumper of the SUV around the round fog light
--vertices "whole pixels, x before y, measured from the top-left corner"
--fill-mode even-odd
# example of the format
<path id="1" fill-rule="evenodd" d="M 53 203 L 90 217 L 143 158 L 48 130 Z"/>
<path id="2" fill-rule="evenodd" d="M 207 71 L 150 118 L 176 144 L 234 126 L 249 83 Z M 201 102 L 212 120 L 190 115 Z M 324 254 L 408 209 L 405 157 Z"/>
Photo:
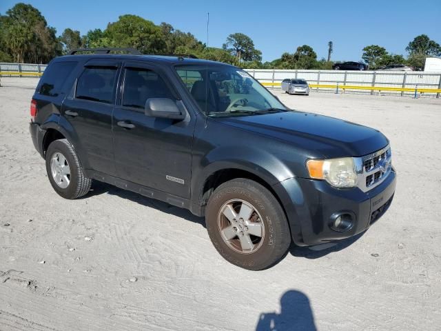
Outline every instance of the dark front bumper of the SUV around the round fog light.
<path id="1" fill-rule="evenodd" d="M 291 178 L 274 186 L 287 212 L 291 235 L 297 245 L 318 245 L 352 237 L 369 228 L 391 205 L 396 188 L 396 172 L 376 188 L 333 188 L 326 181 Z M 331 229 L 333 215 L 353 215 L 353 225 L 345 232 Z"/>

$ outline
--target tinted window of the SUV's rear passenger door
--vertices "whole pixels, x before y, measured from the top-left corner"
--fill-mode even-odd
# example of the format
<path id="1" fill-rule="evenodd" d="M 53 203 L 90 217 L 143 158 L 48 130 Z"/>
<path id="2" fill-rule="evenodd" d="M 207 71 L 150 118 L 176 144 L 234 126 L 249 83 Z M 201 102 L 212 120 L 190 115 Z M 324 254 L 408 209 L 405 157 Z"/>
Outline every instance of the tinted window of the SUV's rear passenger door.
<path id="1" fill-rule="evenodd" d="M 112 103 L 116 68 L 85 68 L 76 84 L 76 99 Z"/>

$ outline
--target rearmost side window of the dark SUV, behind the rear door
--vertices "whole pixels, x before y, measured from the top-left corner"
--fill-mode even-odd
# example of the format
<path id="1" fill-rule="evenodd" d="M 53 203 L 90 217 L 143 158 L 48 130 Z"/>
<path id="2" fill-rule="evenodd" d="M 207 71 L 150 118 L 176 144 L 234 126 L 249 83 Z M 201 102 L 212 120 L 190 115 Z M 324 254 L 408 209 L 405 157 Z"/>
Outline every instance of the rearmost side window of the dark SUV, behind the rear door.
<path id="1" fill-rule="evenodd" d="M 76 63 L 78 62 L 56 62 L 48 66 L 42 77 L 39 94 L 57 97 L 70 73 L 74 70 Z"/>

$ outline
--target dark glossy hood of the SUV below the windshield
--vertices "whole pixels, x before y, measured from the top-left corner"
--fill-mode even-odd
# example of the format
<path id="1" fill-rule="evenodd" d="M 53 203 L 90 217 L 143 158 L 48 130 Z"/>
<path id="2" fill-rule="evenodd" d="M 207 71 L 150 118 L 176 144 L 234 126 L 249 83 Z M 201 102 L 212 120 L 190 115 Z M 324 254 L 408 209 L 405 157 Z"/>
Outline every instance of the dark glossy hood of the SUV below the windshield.
<path id="1" fill-rule="evenodd" d="M 322 157 L 360 157 L 389 143 L 380 131 L 308 112 L 216 118 L 229 126 L 287 141 Z"/>

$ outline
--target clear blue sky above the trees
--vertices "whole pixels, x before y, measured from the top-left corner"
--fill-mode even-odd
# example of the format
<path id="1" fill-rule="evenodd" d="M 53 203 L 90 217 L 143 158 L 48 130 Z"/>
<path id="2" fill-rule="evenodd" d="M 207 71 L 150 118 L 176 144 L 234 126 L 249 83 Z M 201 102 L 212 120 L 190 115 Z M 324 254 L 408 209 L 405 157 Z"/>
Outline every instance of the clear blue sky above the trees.
<path id="1" fill-rule="evenodd" d="M 20 1 L 0 0 L 0 13 Z M 334 42 L 334 60 L 361 58 L 362 48 L 377 44 L 395 54 L 406 54 L 409 41 L 427 34 L 441 43 L 441 0 L 424 1 L 261 1 L 261 0 L 30 0 L 50 26 L 81 34 L 104 29 L 121 14 L 137 14 L 158 24 L 191 32 L 206 41 L 210 14 L 209 46 L 221 47 L 228 34 L 243 32 L 271 61 L 303 44 L 314 48 L 318 59 L 327 57 Z"/>

